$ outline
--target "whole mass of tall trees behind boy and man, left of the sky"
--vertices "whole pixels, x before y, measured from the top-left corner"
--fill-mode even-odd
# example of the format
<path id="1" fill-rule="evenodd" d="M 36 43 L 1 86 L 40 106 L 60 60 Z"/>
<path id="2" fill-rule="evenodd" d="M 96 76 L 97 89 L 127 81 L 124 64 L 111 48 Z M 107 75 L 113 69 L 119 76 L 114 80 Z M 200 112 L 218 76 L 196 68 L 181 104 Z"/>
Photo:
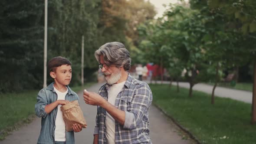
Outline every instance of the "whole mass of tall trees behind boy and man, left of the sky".
<path id="1" fill-rule="evenodd" d="M 0 93 L 19 92 L 43 85 L 43 1 L 1 1 Z M 81 47 L 84 36 L 85 81 L 98 69 L 94 52 L 104 43 L 119 41 L 135 47 L 140 23 L 152 19 L 154 6 L 144 0 L 48 1 L 47 62 L 63 56 L 72 62 L 71 85 L 81 82 Z M 136 56 L 133 54 L 133 58 Z M 138 60 L 138 59 L 137 59 Z M 135 60 L 136 61 L 136 60 Z M 48 73 L 48 72 L 47 72 Z M 47 83 L 52 82 L 47 74 Z"/>

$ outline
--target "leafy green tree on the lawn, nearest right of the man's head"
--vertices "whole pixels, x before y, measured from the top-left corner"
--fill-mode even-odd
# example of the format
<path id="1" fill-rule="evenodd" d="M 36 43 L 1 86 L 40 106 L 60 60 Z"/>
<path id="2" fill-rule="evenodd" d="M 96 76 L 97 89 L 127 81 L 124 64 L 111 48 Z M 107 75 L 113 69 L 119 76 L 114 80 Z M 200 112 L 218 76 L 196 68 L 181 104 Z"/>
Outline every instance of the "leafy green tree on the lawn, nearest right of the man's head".
<path id="1" fill-rule="evenodd" d="M 192 97 L 192 88 L 198 82 L 198 68 L 203 59 L 201 39 L 205 30 L 202 20 L 198 16 L 198 11 L 181 5 L 170 5 L 166 16 L 165 23 L 171 29 L 167 34 L 170 38 L 170 47 L 174 47 L 173 55 L 188 71 L 186 78 L 190 83 L 189 97 Z"/>

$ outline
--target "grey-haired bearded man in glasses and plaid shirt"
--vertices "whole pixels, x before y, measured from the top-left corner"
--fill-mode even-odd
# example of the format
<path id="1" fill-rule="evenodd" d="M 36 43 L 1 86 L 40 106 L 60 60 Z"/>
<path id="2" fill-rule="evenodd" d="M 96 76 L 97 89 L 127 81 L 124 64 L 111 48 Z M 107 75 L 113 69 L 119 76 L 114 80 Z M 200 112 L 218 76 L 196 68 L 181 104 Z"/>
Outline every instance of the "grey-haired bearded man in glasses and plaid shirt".
<path id="1" fill-rule="evenodd" d="M 86 104 L 97 105 L 94 144 L 151 144 L 148 110 L 152 93 L 148 84 L 127 72 L 131 58 L 124 44 L 106 43 L 95 51 L 106 84 L 98 94 L 84 92 Z"/>

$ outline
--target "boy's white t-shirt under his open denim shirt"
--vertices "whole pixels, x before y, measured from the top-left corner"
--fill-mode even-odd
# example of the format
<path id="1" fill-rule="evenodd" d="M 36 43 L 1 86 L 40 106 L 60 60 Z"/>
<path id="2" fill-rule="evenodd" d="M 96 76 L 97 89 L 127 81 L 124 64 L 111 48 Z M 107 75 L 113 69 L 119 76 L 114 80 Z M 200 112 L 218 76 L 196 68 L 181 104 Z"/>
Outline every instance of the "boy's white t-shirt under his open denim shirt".
<path id="1" fill-rule="evenodd" d="M 57 93 L 57 100 L 65 100 L 65 96 L 68 93 L 68 88 L 66 92 L 59 92 L 55 87 L 54 91 Z M 55 121 L 55 141 L 66 141 L 66 124 L 62 117 L 62 111 L 60 110 L 60 107 L 62 105 L 58 105 L 58 111 Z"/>

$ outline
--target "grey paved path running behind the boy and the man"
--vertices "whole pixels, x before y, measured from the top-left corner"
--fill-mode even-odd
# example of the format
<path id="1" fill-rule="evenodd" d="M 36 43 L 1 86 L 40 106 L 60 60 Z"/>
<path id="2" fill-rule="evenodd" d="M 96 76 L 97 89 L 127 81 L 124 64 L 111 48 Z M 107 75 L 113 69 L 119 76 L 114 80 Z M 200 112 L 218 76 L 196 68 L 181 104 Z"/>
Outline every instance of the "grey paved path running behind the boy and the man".
<path id="1" fill-rule="evenodd" d="M 98 92 L 101 85 L 102 84 L 95 84 L 86 89 L 88 91 Z M 97 107 L 85 104 L 82 91 L 78 92 L 78 95 L 80 98 L 80 107 L 82 108 L 87 122 L 87 128 L 79 133 L 75 133 L 75 143 L 92 144 Z M 182 137 L 186 134 L 154 105 L 151 105 L 149 120 L 150 137 L 153 144 L 195 144 L 193 140 L 184 140 Z M 32 123 L 19 128 L 18 131 L 13 131 L 5 140 L 0 141 L 0 144 L 36 144 L 40 127 L 41 119 L 35 118 Z"/>

